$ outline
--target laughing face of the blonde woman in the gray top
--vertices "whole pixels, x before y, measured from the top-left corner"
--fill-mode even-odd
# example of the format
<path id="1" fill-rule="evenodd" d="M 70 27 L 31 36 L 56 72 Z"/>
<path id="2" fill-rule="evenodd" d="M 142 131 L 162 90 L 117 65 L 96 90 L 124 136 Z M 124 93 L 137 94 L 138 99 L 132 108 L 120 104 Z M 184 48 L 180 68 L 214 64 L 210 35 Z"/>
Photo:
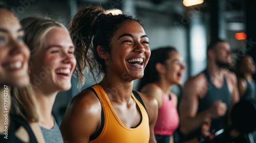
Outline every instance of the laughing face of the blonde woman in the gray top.
<path id="1" fill-rule="evenodd" d="M 63 28 L 50 30 L 43 47 L 30 60 L 31 83 L 48 91 L 69 90 L 76 66 L 75 47 L 69 33 Z"/>

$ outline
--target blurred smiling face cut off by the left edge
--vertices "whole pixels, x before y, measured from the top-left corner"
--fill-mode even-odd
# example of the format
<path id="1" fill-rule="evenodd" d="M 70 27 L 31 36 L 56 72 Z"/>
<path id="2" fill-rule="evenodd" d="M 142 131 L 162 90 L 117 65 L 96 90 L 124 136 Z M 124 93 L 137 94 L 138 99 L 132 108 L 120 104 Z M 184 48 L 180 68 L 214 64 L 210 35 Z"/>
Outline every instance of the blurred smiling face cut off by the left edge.
<path id="1" fill-rule="evenodd" d="M 10 11 L 0 9 L 0 19 L 0 84 L 26 85 L 30 51 L 23 41 L 24 31 Z"/>

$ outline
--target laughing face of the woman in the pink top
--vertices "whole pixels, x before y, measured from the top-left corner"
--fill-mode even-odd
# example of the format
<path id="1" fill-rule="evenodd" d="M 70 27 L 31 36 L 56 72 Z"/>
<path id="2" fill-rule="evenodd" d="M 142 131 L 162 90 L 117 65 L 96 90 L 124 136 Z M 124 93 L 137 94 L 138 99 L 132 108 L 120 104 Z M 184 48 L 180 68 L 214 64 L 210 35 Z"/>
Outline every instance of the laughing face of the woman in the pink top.
<path id="1" fill-rule="evenodd" d="M 169 81 L 170 84 L 182 84 L 182 77 L 185 71 L 183 64 L 183 58 L 176 51 L 169 52 L 169 59 L 165 61 L 164 78 Z"/>

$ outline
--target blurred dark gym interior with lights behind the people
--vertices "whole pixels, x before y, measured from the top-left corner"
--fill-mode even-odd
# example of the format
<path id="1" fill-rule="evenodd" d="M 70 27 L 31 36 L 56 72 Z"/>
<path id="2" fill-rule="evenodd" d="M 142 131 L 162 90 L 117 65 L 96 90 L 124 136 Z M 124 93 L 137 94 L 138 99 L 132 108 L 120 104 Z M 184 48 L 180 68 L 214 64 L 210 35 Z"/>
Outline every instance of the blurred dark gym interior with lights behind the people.
<path id="1" fill-rule="evenodd" d="M 68 25 L 79 7 L 101 5 L 104 9 L 120 9 L 124 14 L 142 20 L 150 39 L 151 50 L 160 46 L 175 46 L 184 57 L 186 73 L 183 81 L 206 67 L 206 47 L 217 38 L 229 42 L 233 61 L 248 53 L 256 60 L 255 0 L 0 0 L 12 6 L 22 20 L 28 16 L 49 16 Z M 235 64 L 233 62 L 232 64 Z M 254 77 L 255 80 L 255 77 Z M 82 89 L 95 84 L 86 73 Z M 136 90 L 137 81 L 134 82 Z M 180 87 L 173 87 L 180 94 Z M 79 92 L 77 79 L 72 89 L 59 92 L 53 114 L 58 123 L 69 101 Z"/>

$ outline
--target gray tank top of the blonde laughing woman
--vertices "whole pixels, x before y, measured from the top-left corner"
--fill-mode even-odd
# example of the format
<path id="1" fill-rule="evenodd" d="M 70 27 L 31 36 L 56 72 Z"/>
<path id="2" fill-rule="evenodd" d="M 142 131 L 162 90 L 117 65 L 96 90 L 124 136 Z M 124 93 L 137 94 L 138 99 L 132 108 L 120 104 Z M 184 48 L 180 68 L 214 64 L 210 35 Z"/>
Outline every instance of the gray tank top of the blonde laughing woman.
<path id="1" fill-rule="evenodd" d="M 46 143 L 63 143 L 62 135 L 54 119 L 54 127 L 52 129 L 46 129 L 41 127 L 42 135 L 44 135 Z"/>

